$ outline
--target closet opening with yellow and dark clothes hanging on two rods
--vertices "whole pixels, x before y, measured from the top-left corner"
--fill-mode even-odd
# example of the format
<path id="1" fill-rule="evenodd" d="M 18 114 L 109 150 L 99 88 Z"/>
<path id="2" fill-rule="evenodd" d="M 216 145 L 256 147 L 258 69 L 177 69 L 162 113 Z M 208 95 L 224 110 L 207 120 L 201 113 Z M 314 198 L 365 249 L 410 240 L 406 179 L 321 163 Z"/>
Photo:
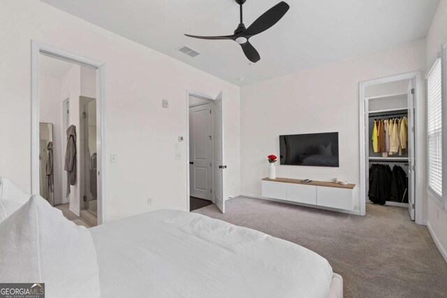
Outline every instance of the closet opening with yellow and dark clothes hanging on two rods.
<path id="1" fill-rule="evenodd" d="M 360 83 L 360 214 L 401 207 L 422 223 L 420 73 Z M 400 213 L 406 211 L 397 210 Z"/>

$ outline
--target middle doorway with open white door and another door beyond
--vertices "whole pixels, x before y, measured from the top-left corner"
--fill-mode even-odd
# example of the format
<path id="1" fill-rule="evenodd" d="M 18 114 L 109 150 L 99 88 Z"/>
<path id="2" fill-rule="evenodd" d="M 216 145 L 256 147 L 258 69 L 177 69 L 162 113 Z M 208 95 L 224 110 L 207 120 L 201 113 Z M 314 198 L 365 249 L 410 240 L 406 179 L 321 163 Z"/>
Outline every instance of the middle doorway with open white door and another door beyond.
<path id="1" fill-rule="evenodd" d="M 216 204 L 224 213 L 222 96 L 187 93 L 188 208 Z"/>

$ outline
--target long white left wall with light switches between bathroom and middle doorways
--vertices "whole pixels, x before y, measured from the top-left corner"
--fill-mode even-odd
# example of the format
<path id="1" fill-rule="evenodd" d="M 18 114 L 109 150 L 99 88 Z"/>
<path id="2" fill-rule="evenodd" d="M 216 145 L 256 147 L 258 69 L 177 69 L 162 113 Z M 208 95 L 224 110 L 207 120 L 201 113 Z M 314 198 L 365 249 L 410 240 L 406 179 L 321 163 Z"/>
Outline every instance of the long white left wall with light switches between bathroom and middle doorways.
<path id="1" fill-rule="evenodd" d="M 224 187 L 240 193 L 240 88 L 37 0 L 2 1 L 0 10 L 1 175 L 31 189 L 31 40 L 105 64 L 108 219 L 161 208 L 186 210 L 186 90 L 223 91 Z M 20 87 L 19 87 L 20 86 Z M 170 107 L 161 107 L 161 100 Z M 19 133 L 20 132 L 20 133 Z M 147 205 L 152 197 L 153 204 Z"/>

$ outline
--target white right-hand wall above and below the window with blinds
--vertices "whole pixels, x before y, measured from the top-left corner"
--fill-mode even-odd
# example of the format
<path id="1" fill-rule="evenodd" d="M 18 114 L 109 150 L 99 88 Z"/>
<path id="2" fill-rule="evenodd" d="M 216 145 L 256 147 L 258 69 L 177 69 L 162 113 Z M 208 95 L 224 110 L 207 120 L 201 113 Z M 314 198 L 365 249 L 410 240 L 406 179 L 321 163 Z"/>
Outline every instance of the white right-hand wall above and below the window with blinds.
<path id="1" fill-rule="evenodd" d="M 441 49 L 441 43 L 447 41 L 447 1 L 439 1 L 436 15 L 427 34 L 427 68 L 437 57 L 437 52 Z M 445 179 L 445 178 L 444 178 Z M 447 190 L 444 190 L 444 197 Z M 432 232 L 433 238 L 444 258 L 447 260 L 447 211 L 444 210 L 430 195 L 427 195 L 427 225 Z"/>

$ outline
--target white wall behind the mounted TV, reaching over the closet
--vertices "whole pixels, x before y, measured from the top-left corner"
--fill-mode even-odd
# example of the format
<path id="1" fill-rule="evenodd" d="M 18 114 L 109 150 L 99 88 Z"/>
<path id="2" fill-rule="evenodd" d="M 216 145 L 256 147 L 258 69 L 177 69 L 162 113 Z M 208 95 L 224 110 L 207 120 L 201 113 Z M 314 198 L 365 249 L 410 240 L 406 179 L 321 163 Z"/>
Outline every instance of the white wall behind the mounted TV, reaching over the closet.
<path id="1" fill-rule="evenodd" d="M 279 135 L 339 132 L 339 167 L 277 164 L 277 177 L 359 184 L 358 83 L 425 69 L 425 40 L 312 68 L 241 89 L 241 191 L 261 195 Z M 359 187 L 356 188 L 359 198 Z M 360 202 L 357 203 L 358 207 Z"/>

